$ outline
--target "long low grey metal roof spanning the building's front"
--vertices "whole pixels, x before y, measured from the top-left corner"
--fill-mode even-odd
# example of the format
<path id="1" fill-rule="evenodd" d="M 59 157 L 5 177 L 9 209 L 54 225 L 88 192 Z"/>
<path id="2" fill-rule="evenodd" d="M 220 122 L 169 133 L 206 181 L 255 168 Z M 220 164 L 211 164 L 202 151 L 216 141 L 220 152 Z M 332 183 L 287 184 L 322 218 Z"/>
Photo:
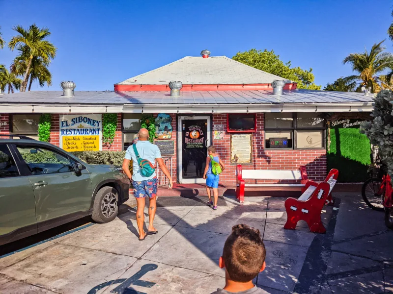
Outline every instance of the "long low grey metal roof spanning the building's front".
<path id="1" fill-rule="evenodd" d="M 209 57 L 210 58 L 210 57 Z M 208 59 L 208 58 L 206 58 Z M 284 90 L 281 96 L 273 91 L 180 91 L 179 97 L 168 92 L 75 91 L 66 98 L 61 91 L 30 91 L 0 95 L 0 104 L 304 104 L 304 103 L 371 103 L 372 96 L 356 92 Z M 1 106 L 0 106 L 1 112 Z"/>

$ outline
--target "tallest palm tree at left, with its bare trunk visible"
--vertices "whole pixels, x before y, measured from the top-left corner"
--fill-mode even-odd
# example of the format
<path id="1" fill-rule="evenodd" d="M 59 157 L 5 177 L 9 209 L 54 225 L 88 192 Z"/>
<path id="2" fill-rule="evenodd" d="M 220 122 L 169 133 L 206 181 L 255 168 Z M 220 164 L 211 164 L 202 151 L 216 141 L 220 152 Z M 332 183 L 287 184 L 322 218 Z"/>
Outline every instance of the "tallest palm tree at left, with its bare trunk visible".
<path id="1" fill-rule="evenodd" d="M 8 47 L 11 50 L 17 48 L 22 52 L 28 54 L 28 62 L 26 71 L 24 73 L 21 91 L 25 92 L 28 84 L 28 76 L 30 67 L 34 57 L 41 58 L 45 63 L 50 63 L 56 56 L 56 47 L 45 38 L 51 35 L 49 28 L 39 28 L 37 25 L 30 25 L 28 30 L 25 30 L 22 26 L 17 25 L 13 27 L 13 30 L 19 33 L 19 35 L 11 38 L 8 43 Z"/>

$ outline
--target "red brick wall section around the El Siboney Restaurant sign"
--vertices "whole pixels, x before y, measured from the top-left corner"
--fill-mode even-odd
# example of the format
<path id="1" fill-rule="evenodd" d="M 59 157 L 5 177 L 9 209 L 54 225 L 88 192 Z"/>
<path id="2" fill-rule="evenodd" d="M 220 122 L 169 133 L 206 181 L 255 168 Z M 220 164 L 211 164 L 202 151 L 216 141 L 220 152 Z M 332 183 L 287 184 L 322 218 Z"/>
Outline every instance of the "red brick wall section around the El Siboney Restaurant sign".
<path id="1" fill-rule="evenodd" d="M 70 115 L 81 115 L 75 114 L 75 113 L 62 113 L 62 114 L 70 114 Z M 51 138 L 50 138 L 50 143 L 56 146 L 60 146 L 60 135 L 59 135 L 59 119 L 61 113 L 55 113 L 52 114 L 52 126 L 51 126 Z M 88 113 L 84 113 L 88 114 Z M 111 151 L 121 151 L 123 150 L 123 145 L 122 145 L 122 133 L 121 133 L 121 113 L 117 114 L 117 127 L 116 127 L 116 132 L 114 135 L 114 140 L 111 145 L 109 144 L 103 144 L 102 150 L 111 150 Z"/>

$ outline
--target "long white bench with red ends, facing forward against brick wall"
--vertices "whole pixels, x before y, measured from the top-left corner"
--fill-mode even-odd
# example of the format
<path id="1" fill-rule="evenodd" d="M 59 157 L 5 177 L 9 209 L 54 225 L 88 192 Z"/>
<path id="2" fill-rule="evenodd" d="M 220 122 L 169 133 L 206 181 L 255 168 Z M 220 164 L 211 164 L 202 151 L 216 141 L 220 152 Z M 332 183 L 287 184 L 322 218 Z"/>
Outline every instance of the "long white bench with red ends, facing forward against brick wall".
<path id="1" fill-rule="evenodd" d="M 245 184 L 245 180 L 298 180 L 300 183 L 293 184 Z M 308 180 L 306 167 L 301 166 L 297 171 L 278 170 L 243 170 L 241 165 L 236 167 L 236 198 L 240 203 L 244 202 L 244 188 L 247 187 L 304 187 Z"/>

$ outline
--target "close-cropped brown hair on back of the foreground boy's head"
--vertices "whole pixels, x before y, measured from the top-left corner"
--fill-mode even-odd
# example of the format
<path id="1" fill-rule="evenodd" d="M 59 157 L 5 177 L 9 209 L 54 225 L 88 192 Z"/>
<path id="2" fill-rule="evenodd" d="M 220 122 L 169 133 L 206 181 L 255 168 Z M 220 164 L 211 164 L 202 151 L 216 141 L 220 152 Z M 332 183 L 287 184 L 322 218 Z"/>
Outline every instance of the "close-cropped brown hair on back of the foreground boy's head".
<path id="1" fill-rule="evenodd" d="M 223 258 L 232 281 L 251 281 L 258 275 L 266 258 L 259 230 L 247 224 L 233 226 L 225 241 Z"/>

